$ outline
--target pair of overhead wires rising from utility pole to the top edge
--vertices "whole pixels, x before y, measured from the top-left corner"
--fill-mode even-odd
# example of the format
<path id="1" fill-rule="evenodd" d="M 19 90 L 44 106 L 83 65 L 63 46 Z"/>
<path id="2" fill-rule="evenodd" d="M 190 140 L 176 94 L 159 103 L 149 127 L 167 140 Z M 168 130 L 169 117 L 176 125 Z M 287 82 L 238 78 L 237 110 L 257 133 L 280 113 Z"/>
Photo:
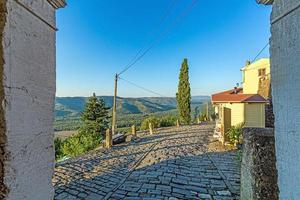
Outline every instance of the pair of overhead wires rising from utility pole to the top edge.
<path id="1" fill-rule="evenodd" d="M 124 70 L 122 70 L 118 75 L 121 75 L 123 73 L 125 73 L 127 70 L 129 70 L 132 66 L 134 66 L 139 60 L 141 60 L 156 44 L 158 44 L 159 42 L 161 42 L 161 40 L 166 37 L 174 27 L 176 27 L 181 20 L 187 16 L 189 14 L 189 12 L 196 6 L 196 4 L 198 3 L 199 0 L 193 0 L 192 3 L 183 11 L 181 12 L 181 14 L 176 18 L 176 20 L 171 24 L 171 26 L 169 26 L 168 29 L 166 29 L 159 38 L 153 40 L 153 42 L 150 44 L 150 46 L 145 49 L 145 51 L 139 55 L 138 57 L 136 57 L 136 59 L 129 65 L 127 65 L 127 67 L 125 67 Z"/>

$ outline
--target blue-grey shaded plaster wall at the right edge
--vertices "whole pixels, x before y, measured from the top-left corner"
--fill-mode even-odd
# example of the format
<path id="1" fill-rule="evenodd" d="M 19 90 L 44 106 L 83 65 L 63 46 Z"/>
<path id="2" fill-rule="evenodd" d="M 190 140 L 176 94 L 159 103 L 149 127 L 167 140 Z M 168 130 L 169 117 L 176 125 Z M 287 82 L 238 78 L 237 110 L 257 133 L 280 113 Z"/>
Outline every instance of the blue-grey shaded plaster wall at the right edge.
<path id="1" fill-rule="evenodd" d="M 277 17 L 299 0 L 275 0 L 271 21 L 271 84 L 280 199 L 300 199 L 300 8 Z"/>

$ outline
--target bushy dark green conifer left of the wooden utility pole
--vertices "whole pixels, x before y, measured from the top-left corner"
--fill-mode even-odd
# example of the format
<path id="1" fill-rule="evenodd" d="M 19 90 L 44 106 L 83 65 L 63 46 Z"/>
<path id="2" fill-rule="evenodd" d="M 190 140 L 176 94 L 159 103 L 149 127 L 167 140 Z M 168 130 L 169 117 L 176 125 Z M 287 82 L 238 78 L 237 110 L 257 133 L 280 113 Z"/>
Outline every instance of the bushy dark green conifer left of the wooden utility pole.
<path id="1" fill-rule="evenodd" d="M 79 129 L 81 133 L 102 134 L 109 127 L 109 108 L 105 106 L 103 99 L 98 99 L 94 93 L 85 105 L 81 114 L 83 122 Z"/>

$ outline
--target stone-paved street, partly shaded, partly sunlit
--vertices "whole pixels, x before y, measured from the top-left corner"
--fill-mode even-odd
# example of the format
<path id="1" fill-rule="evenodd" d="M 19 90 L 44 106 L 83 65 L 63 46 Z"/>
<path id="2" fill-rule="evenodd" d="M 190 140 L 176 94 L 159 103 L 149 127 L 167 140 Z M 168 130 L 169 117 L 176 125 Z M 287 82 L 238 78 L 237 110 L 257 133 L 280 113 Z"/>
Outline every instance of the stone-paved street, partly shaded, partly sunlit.
<path id="1" fill-rule="evenodd" d="M 239 199 L 236 153 L 209 147 L 213 128 L 165 128 L 60 162 L 55 199 Z"/>

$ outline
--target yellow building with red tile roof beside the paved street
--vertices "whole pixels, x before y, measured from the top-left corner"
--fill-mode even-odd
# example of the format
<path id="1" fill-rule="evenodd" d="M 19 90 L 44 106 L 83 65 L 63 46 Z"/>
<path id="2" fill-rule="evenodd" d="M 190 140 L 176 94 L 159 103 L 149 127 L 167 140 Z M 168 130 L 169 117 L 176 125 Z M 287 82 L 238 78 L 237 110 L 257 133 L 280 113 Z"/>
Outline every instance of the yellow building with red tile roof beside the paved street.
<path id="1" fill-rule="evenodd" d="M 212 95 L 212 103 L 218 114 L 216 135 L 226 142 L 225 133 L 232 126 L 265 127 L 265 104 L 270 92 L 270 61 L 260 59 L 247 63 L 241 69 L 243 88 Z"/>

